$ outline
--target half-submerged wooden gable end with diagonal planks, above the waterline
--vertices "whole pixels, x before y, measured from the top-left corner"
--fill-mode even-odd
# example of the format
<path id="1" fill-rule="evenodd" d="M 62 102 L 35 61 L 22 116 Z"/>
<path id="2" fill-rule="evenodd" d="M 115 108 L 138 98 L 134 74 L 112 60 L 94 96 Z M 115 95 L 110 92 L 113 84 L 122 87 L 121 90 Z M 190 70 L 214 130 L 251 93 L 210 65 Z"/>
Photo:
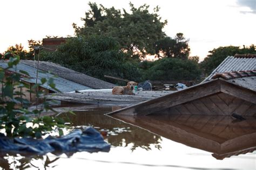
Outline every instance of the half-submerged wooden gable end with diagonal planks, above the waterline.
<path id="1" fill-rule="evenodd" d="M 241 78 L 238 78 L 241 79 Z M 169 95 L 120 109 L 110 114 L 256 115 L 256 91 L 237 79 L 213 79 Z M 242 80 L 244 81 L 244 80 Z M 256 79 L 252 82 L 256 84 Z M 240 84 L 239 84 L 240 83 Z"/>

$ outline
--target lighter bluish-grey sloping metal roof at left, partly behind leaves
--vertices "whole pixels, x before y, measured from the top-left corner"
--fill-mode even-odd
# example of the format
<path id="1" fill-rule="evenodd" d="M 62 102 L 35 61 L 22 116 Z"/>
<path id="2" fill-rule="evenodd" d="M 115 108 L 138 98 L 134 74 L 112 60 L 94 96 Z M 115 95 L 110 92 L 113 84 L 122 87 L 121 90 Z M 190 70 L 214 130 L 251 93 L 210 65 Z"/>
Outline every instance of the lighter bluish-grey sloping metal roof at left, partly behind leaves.
<path id="1" fill-rule="evenodd" d="M 0 61 L 0 67 L 6 68 L 8 67 L 8 64 L 6 61 Z M 22 78 L 22 80 L 30 83 L 36 83 L 36 69 L 34 67 L 24 65 L 23 63 L 19 63 L 16 67 L 10 69 L 12 72 L 19 73 L 19 70 L 24 70 L 25 72 L 28 72 L 31 79 L 28 78 Z M 66 79 L 63 79 L 62 77 L 57 77 L 55 75 L 42 72 L 42 70 L 39 70 L 38 72 L 38 82 L 41 82 L 42 78 L 50 79 L 50 77 L 53 77 L 55 87 L 62 91 L 62 92 L 69 92 L 69 91 L 75 91 L 75 90 L 86 90 L 86 89 L 92 89 L 90 87 L 83 86 L 82 84 L 78 84 Z M 56 91 L 55 89 L 52 89 L 48 84 L 43 84 L 43 88 Z M 57 92 L 57 91 L 56 91 Z"/>

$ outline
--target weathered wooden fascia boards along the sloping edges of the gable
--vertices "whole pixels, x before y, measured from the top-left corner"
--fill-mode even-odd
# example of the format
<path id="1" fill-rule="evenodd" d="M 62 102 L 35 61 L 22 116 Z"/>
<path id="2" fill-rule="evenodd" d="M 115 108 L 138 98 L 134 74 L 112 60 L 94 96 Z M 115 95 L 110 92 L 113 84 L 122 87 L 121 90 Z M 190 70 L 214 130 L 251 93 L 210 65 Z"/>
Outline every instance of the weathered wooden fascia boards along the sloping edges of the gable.
<path id="1" fill-rule="evenodd" d="M 197 100 L 199 98 L 215 95 L 218 93 L 228 94 L 241 100 L 256 104 L 256 91 L 244 88 L 224 79 L 215 79 L 169 95 L 155 98 L 132 107 L 120 109 L 110 114 L 122 115 L 150 115 L 176 105 Z"/>

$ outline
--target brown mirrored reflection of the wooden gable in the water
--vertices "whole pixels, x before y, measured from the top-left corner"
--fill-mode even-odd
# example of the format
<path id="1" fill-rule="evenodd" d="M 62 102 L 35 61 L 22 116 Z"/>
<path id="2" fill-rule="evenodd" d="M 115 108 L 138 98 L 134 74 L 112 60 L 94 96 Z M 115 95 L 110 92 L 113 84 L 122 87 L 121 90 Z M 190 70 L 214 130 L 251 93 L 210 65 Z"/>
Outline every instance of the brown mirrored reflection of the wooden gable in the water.
<path id="1" fill-rule="evenodd" d="M 178 143 L 212 152 L 212 156 L 220 160 L 256 150 L 255 117 L 246 117 L 245 121 L 240 122 L 234 121 L 230 116 L 208 115 L 112 117 Z"/>

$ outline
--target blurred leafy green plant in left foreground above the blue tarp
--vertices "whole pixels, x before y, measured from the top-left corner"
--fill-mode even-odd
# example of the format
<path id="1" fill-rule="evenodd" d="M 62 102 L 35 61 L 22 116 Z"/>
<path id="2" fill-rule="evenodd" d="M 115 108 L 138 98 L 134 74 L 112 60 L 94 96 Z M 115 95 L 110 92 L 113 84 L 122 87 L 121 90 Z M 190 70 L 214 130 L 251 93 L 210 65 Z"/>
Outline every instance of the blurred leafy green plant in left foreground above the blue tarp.
<path id="1" fill-rule="evenodd" d="M 41 116 L 43 111 L 54 111 L 50 107 L 50 102 L 46 101 L 44 91 L 37 89 L 38 86 L 47 83 L 50 87 L 55 87 L 53 80 L 42 79 L 41 83 L 32 86 L 30 93 L 35 94 L 38 98 L 43 99 L 43 108 L 29 110 L 30 102 L 26 100 L 21 88 L 30 89 L 29 85 L 21 80 L 21 74 L 13 73 L 4 77 L 6 69 L 12 68 L 19 63 L 19 56 L 10 58 L 8 68 L 0 69 L 0 83 L 2 84 L 2 95 L 0 98 L 0 129 L 5 129 L 7 136 L 12 137 L 36 137 L 41 138 L 42 135 L 52 131 L 53 129 L 64 128 L 63 119 L 52 116 Z M 29 75 L 21 71 L 22 74 Z M 28 127 L 28 123 L 31 126 Z M 62 134 L 62 130 L 59 129 Z"/>

